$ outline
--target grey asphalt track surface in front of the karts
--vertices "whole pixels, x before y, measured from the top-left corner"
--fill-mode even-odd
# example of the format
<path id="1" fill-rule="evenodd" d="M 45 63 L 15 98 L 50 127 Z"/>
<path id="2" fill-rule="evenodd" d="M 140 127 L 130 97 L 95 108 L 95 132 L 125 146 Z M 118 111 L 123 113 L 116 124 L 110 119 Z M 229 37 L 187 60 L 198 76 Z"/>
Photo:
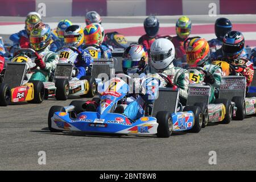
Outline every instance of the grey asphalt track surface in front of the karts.
<path id="1" fill-rule="evenodd" d="M 255 117 L 170 138 L 49 132 L 49 108 L 72 100 L 0 107 L 0 170 L 256 169 Z M 39 151 L 46 152 L 46 165 L 38 164 Z M 208 163 L 210 151 L 216 165 Z"/>

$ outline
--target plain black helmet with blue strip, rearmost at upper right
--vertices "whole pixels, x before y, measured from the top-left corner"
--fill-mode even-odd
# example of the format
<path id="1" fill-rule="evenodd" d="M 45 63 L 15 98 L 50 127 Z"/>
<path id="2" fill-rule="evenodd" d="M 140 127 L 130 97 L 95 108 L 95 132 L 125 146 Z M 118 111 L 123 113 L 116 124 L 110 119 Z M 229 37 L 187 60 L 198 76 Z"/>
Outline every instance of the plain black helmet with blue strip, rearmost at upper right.
<path id="1" fill-rule="evenodd" d="M 232 30 L 232 23 L 229 19 L 218 18 L 215 22 L 215 35 L 218 39 L 223 40 L 224 35 Z"/>

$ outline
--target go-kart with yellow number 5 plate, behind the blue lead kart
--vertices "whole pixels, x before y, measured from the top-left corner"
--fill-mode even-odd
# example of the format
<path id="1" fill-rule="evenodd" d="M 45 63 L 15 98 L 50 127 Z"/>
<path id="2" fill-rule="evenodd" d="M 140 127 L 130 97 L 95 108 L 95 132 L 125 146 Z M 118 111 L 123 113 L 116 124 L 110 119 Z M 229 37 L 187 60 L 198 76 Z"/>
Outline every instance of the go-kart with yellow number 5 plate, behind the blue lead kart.
<path id="1" fill-rule="evenodd" d="M 188 72 L 189 86 L 187 105 L 196 105 L 201 108 L 204 115 L 203 127 L 207 126 L 208 123 L 230 123 L 232 117 L 236 117 L 237 112 L 237 107 L 234 102 L 231 102 L 228 98 L 219 97 L 210 104 L 209 98 L 214 90 L 203 82 L 207 71 L 201 67 L 189 67 Z M 244 102 L 243 97 L 235 98 L 233 101 L 237 100 L 242 103 Z M 240 111 L 240 109 L 241 108 L 238 108 L 238 111 Z"/>

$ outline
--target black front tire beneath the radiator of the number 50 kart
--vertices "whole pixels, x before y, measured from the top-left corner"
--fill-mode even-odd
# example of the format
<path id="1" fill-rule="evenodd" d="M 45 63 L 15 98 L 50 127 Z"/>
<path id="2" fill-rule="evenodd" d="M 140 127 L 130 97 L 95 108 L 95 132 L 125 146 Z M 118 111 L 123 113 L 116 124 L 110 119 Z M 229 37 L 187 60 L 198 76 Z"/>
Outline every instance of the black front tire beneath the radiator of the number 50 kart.
<path id="1" fill-rule="evenodd" d="M 69 94 L 69 82 L 67 79 L 56 79 L 55 81 L 56 86 L 56 93 L 55 97 L 56 100 L 65 101 L 68 99 Z"/>

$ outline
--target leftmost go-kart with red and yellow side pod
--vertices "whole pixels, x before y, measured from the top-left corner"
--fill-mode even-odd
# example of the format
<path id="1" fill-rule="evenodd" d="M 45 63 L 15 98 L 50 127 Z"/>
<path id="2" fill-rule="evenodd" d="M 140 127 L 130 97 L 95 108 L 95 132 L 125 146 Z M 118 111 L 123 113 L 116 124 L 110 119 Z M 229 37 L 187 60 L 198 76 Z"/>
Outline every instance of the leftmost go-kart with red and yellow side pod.
<path id="1" fill-rule="evenodd" d="M 0 83 L 0 106 L 7 106 L 10 102 L 28 102 L 40 104 L 44 98 L 44 85 L 41 81 L 27 81 L 27 72 L 35 67 L 30 57 L 24 52 L 30 51 L 39 56 L 32 49 L 20 49 L 17 55 L 7 63 L 3 81 Z M 24 79 L 26 77 L 26 79 Z"/>

